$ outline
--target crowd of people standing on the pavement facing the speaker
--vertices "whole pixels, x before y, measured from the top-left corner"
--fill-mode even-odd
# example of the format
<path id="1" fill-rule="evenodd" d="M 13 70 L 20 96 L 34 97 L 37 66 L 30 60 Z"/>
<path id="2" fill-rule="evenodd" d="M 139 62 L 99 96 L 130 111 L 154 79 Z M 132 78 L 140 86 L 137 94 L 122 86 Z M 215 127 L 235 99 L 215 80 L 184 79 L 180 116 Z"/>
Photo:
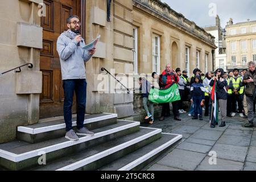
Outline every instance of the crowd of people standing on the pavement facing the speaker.
<path id="1" fill-rule="evenodd" d="M 154 82 L 158 83 L 159 89 L 166 89 L 172 84 L 177 84 L 179 88 L 180 100 L 172 102 L 172 113 L 174 119 L 181 121 L 180 114 L 187 113 L 184 109 L 183 102 L 191 103 L 188 111 L 188 117 L 192 119 L 203 120 L 204 117 L 212 118 L 212 94 L 216 94 L 218 111 L 220 112 L 221 124 L 220 127 L 225 127 L 226 117 L 247 118 L 248 123 L 243 127 L 255 127 L 253 122 L 255 114 L 255 96 L 256 92 L 256 72 L 255 63 L 248 63 L 248 69 L 243 69 L 241 72 L 235 68 L 232 71 L 224 72 L 222 68 L 216 71 L 202 73 L 200 69 L 193 70 L 193 76 L 189 78 L 187 71 L 182 71 L 180 68 L 171 69 L 171 65 L 167 64 L 166 69 L 161 75 L 156 72 L 152 73 Z M 146 78 L 139 78 L 141 85 L 143 107 L 146 110 L 147 116 L 145 120 L 150 124 L 154 123 L 154 104 L 148 100 L 150 89 L 155 88 L 155 84 L 148 81 Z M 212 89 L 215 86 L 216 91 Z M 148 104 L 150 109 L 148 109 Z M 162 104 L 162 114 L 159 121 L 163 121 L 166 117 L 170 117 L 170 103 Z M 218 123 L 210 125 L 215 127 Z"/>

